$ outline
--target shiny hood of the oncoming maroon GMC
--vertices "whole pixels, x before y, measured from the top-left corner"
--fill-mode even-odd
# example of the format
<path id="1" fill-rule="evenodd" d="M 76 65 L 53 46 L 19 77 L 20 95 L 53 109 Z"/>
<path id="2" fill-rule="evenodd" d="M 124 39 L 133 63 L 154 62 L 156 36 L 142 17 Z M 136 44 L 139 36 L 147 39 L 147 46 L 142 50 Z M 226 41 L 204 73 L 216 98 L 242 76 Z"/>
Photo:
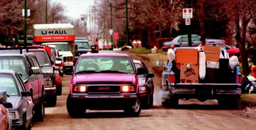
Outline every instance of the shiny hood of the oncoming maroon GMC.
<path id="1" fill-rule="evenodd" d="M 113 84 L 135 84 L 135 74 L 77 74 L 75 75 L 76 83 L 113 83 Z"/>

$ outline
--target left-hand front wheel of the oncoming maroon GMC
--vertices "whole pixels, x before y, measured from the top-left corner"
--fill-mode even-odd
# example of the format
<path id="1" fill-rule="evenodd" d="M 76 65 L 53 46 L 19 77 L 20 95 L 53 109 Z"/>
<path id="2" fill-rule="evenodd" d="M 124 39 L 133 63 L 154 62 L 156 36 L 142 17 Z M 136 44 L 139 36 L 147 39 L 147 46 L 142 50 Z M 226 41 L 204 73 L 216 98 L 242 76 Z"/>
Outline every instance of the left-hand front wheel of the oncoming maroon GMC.
<path id="1" fill-rule="evenodd" d="M 82 117 L 84 114 L 86 114 L 86 109 L 79 106 L 78 102 L 73 100 L 70 95 L 67 98 L 67 110 L 72 118 Z"/>

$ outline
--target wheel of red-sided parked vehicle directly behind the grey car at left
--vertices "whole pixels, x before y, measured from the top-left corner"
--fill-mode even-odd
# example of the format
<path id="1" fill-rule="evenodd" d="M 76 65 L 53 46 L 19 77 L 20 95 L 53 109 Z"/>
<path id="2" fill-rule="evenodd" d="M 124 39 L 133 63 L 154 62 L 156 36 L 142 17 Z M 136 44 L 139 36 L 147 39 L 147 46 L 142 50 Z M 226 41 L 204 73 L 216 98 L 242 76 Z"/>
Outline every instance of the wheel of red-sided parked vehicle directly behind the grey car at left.
<path id="1" fill-rule="evenodd" d="M 35 107 L 35 117 L 38 121 L 43 121 L 45 117 L 45 105 L 43 98 L 40 99 L 40 102 Z"/>

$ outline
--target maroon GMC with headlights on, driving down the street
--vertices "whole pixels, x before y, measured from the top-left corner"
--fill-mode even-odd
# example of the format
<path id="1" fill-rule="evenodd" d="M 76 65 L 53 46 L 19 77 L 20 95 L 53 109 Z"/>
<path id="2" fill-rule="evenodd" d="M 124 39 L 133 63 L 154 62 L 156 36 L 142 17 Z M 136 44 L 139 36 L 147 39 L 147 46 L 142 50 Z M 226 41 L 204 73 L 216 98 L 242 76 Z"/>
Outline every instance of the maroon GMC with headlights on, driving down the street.
<path id="1" fill-rule="evenodd" d="M 141 111 L 138 75 L 131 56 L 93 53 L 79 56 L 73 71 L 67 110 L 79 117 L 90 110 L 124 110 L 128 116 Z"/>

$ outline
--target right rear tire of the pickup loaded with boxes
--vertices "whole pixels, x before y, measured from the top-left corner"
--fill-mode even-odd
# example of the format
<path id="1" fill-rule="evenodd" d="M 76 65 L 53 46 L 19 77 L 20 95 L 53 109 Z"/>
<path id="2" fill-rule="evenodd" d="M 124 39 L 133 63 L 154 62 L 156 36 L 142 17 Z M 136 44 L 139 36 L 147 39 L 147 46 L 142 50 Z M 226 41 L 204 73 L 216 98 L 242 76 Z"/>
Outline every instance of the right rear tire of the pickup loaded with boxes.
<path id="1" fill-rule="evenodd" d="M 237 109 L 238 98 L 237 97 L 223 97 L 218 99 L 218 105 L 222 109 Z"/>

